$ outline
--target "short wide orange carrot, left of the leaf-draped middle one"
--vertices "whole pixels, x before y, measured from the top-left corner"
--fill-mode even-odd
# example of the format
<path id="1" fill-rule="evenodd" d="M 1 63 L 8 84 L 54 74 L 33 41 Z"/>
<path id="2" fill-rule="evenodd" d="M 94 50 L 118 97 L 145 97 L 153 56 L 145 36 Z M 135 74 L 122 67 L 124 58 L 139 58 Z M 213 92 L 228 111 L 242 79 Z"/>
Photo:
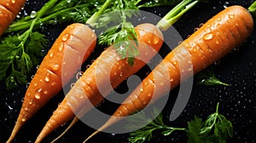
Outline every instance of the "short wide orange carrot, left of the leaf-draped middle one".
<path id="1" fill-rule="evenodd" d="M 13 140 L 21 126 L 60 92 L 62 85 L 75 75 L 95 46 L 96 34 L 88 26 L 75 23 L 61 32 L 26 90 L 15 128 L 7 142 Z"/>

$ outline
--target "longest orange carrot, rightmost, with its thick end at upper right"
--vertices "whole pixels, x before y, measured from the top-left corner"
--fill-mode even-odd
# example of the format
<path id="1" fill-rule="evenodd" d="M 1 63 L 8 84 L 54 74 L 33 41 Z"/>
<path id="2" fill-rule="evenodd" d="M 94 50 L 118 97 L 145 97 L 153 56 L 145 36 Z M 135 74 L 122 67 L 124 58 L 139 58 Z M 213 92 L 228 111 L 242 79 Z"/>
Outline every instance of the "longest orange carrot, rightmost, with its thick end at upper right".
<path id="1" fill-rule="evenodd" d="M 148 106 L 148 103 L 162 97 L 169 91 L 166 91 L 166 85 L 170 85 L 170 89 L 174 89 L 181 81 L 181 72 L 185 77 L 189 77 L 190 66 L 187 60 L 183 60 L 184 56 L 191 58 L 191 66 L 193 72 L 197 73 L 211 65 L 214 61 L 220 59 L 230 50 L 242 43 L 253 31 L 253 17 L 247 9 L 241 6 L 231 6 L 224 9 L 206 24 L 201 26 L 190 37 L 179 44 L 166 58 L 160 62 L 154 70 L 143 79 L 143 82 L 135 89 L 124 101 L 123 104 L 113 113 L 107 123 L 85 141 L 89 140 L 93 135 L 107 129 L 113 123 L 120 121 L 120 117 L 126 117 L 133 112 L 137 112 Z M 167 67 L 167 71 L 165 68 Z M 169 77 L 166 77 L 166 72 Z M 156 79 L 160 80 L 160 85 L 156 85 Z M 166 80 L 167 79 L 167 80 Z M 153 98 L 154 94 L 154 98 Z M 84 141 L 84 142 L 85 142 Z"/>

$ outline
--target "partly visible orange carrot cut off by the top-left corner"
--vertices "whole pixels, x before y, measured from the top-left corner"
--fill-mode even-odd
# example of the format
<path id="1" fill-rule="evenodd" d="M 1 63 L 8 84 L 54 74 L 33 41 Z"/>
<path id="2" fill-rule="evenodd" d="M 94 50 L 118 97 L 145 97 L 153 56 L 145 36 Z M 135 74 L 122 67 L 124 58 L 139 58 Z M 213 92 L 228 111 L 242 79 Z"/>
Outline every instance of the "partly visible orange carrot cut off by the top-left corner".
<path id="1" fill-rule="evenodd" d="M 26 0 L 1 0 L 0 1 L 0 36 L 3 31 L 15 20 Z"/>

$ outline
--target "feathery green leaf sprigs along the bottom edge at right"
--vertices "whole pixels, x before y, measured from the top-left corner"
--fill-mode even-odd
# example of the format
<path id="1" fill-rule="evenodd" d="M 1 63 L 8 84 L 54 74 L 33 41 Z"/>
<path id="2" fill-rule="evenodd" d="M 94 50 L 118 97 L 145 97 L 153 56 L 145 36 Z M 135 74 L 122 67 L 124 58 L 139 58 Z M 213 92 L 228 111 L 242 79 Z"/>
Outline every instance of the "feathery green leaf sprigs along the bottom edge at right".
<path id="1" fill-rule="evenodd" d="M 218 105 L 219 103 L 217 104 L 216 112 L 209 115 L 205 122 L 203 122 L 202 118 L 195 116 L 195 118 L 188 123 L 188 128 L 169 127 L 163 123 L 162 115 L 160 114 L 142 129 L 131 132 L 128 140 L 131 143 L 143 143 L 153 138 L 154 130 L 160 130 L 160 134 L 162 135 L 170 135 L 174 131 L 179 130 L 187 133 L 189 143 L 225 143 L 226 140 L 233 136 L 233 126 L 224 115 L 218 113 Z M 127 127 L 130 129 L 134 128 L 132 124 L 136 125 L 138 120 L 142 122 L 150 119 L 144 114 L 141 114 L 139 117 L 140 118 L 129 120 L 128 122 L 130 122 L 130 124 Z"/>

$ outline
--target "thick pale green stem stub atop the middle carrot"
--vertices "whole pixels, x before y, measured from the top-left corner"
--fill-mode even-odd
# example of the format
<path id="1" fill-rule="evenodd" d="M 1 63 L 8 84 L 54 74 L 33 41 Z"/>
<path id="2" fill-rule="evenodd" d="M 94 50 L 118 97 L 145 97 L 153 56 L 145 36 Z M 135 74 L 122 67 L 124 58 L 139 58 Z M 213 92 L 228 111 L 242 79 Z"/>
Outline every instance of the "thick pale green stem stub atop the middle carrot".
<path id="1" fill-rule="evenodd" d="M 183 0 L 181 3 L 178 3 L 177 6 L 175 6 L 168 14 L 166 14 L 166 16 L 164 16 L 156 26 L 158 26 L 161 31 L 166 31 L 198 2 L 199 0 Z"/>

